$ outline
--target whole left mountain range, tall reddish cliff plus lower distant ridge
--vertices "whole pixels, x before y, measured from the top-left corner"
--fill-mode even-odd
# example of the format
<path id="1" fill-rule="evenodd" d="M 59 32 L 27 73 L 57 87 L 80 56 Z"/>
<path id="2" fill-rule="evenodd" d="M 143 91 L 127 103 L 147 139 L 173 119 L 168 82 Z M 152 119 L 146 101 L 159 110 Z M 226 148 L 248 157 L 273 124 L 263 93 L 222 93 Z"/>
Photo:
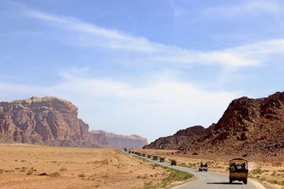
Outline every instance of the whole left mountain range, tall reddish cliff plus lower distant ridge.
<path id="1" fill-rule="evenodd" d="M 0 142 L 24 142 L 70 147 L 135 147 L 147 144 L 142 137 L 89 132 L 77 118 L 72 103 L 56 97 L 32 97 L 0 103 Z M 109 139 L 109 137 L 111 139 Z M 117 144 L 116 144 L 117 143 Z"/>

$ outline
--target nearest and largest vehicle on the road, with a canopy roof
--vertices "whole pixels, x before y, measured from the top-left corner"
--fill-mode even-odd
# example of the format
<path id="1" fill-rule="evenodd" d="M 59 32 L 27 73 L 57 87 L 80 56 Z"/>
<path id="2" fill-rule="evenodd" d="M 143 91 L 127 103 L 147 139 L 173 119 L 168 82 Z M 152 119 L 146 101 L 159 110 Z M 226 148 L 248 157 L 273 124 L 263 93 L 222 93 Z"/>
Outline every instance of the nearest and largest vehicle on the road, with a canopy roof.
<path id="1" fill-rule="evenodd" d="M 246 185 L 248 183 L 248 168 L 249 160 L 243 158 L 234 158 L 229 160 L 229 182 L 243 181 Z"/>

